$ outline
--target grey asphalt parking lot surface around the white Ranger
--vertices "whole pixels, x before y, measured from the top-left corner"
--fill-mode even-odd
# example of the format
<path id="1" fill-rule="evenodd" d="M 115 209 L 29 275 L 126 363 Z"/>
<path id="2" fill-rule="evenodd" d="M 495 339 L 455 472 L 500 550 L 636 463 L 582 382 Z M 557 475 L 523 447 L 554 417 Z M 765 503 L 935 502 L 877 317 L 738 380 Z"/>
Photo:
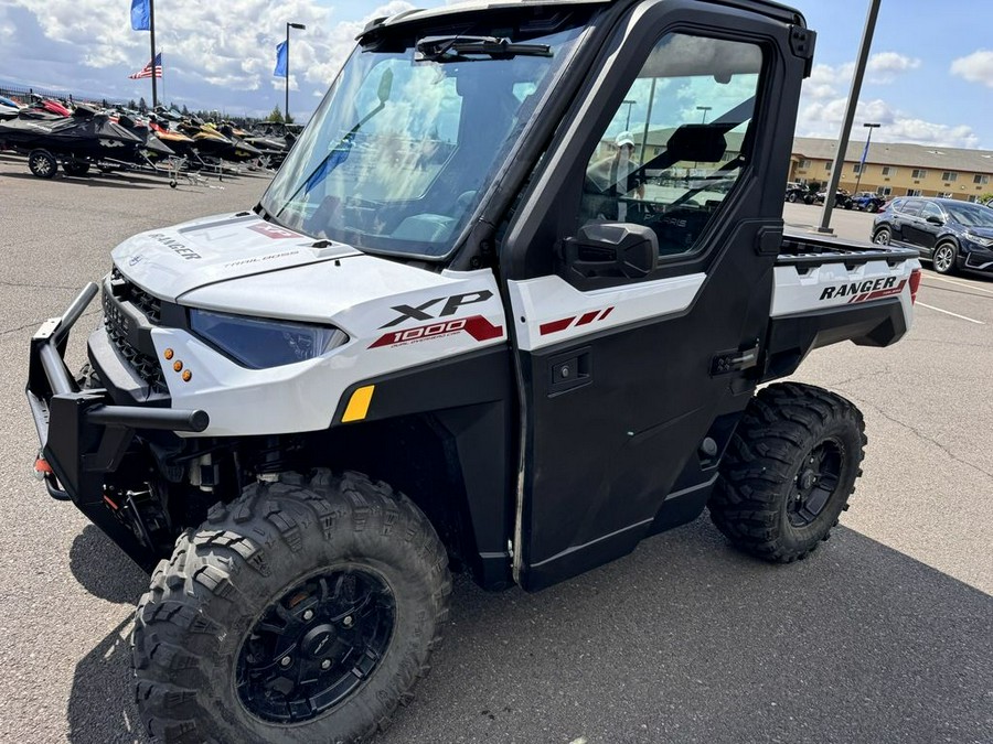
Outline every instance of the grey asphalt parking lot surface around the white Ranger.
<path id="1" fill-rule="evenodd" d="M 266 182 L 40 181 L 0 154 L 2 742 L 148 741 L 127 649 L 147 579 L 30 475 L 29 338 L 118 241 L 248 208 Z M 798 229 L 820 214 L 784 211 Z M 833 225 L 865 238 L 871 222 L 835 212 Z M 908 337 L 800 368 L 855 401 L 869 438 L 852 508 L 814 556 L 760 563 L 703 517 L 538 594 L 459 580 L 431 676 L 375 744 L 990 744 L 991 370 L 993 280 L 926 268 Z"/>

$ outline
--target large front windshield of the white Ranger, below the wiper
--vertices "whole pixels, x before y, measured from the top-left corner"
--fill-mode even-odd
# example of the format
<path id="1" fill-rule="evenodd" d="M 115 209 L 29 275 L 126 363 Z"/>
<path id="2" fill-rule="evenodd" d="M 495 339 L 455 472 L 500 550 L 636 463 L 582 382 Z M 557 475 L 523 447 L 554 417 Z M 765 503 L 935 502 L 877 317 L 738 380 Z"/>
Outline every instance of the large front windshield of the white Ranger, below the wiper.
<path id="1" fill-rule="evenodd" d="M 263 197 L 269 216 L 371 252 L 451 252 L 586 21 L 501 23 L 501 47 L 478 15 L 357 48 Z"/>

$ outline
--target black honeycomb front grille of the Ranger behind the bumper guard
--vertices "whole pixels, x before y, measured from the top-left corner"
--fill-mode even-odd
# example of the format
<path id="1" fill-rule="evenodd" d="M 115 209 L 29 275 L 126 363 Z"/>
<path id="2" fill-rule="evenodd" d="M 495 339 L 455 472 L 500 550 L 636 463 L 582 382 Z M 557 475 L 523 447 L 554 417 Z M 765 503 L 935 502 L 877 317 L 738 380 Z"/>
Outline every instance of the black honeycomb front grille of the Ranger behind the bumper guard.
<path id="1" fill-rule="evenodd" d="M 104 327 L 107 331 L 107 337 L 138 377 L 149 386 L 151 392 L 168 393 L 166 375 L 158 360 L 137 348 L 129 338 L 128 330 L 131 327 L 131 321 L 122 308 L 125 302 L 129 302 L 136 311 L 141 313 L 150 325 L 161 323 L 162 301 L 125 279 L 115 267 L 110 272 L 110 281 L 104 285 Z M 151 346 L 150 339 L 148 339 L 148 344 L 143 341 L 139 343 L 142 346 Z"/>

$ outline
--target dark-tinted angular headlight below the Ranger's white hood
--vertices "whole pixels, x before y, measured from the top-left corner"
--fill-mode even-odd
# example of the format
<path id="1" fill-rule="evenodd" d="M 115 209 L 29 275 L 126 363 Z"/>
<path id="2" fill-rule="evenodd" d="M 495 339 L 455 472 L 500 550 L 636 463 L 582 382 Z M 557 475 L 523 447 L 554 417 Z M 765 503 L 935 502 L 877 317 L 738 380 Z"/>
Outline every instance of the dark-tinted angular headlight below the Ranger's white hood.
<path id="1" fill-rule="evenodd" d="M 190 327 L 197 336 L 252 369 L 313 359 L 349 339 L 338 328 L 206 310 L 190 311 Z"/>

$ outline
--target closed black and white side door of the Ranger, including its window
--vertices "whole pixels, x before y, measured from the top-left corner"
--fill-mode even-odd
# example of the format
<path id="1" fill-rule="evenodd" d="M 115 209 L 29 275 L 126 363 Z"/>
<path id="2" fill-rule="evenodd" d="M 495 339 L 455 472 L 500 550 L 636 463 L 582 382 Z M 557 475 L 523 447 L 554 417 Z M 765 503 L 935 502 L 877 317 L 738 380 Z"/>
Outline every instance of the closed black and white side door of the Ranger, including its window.
<path id="1" fill-rule="evenodd" d="M 526 589 L 695 518 L 755 387 L 804 63 L 788 21 L 701 8 L 616 30 L 501 246 Z"/>

